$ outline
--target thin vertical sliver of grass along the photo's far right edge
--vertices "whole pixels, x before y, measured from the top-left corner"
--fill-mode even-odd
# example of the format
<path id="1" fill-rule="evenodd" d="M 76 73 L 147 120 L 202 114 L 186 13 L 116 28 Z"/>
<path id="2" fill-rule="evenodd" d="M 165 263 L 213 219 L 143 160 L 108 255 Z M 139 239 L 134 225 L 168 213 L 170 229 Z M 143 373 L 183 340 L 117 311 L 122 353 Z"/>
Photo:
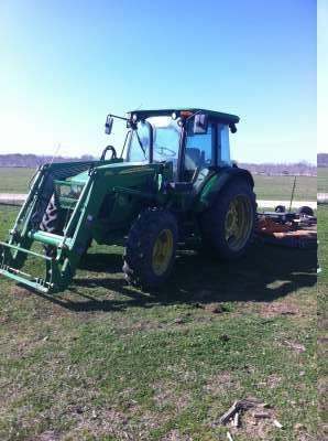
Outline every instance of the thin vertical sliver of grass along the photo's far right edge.
<path id="1" fill-rule="evenodd" d="M 326 190 L 327 191 L 327 190 Z M 320 205 L 318 209 L 319 263 L 321 272 L 318 277 L 318 391 L 320 419 L 326 423 L 322 428 L 322 439 L 328 439 L 328 206 Z M 326 438 L 324 438 L 326 437 Z"/>

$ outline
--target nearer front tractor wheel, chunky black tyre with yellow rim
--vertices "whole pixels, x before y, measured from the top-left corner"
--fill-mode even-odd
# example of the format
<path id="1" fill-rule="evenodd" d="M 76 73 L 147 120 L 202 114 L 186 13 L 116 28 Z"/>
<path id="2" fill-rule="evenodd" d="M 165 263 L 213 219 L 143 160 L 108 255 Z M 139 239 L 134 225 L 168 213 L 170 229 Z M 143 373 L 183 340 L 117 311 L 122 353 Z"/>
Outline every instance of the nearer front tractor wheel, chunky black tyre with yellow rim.
<path id="1" fill-rule="evenodd" d="M 127 240 L 123 272 L 125 280 L 142 288 L 156 288 L 171 275 L 176 252 L 175 217 L 161 208 L 142 212 Z"/>

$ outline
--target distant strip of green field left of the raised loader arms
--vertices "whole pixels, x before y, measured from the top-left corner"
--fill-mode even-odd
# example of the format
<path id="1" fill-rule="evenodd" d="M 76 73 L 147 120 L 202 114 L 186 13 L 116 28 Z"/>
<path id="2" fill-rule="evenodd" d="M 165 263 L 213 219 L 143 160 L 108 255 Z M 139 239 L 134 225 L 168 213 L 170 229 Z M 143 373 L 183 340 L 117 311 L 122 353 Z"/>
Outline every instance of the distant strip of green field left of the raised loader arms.
<path id="1" fill-rule="evenodd" d="M 0 193 L 28 193 L 34 169 L 19 166 L 0 168 Z"/>

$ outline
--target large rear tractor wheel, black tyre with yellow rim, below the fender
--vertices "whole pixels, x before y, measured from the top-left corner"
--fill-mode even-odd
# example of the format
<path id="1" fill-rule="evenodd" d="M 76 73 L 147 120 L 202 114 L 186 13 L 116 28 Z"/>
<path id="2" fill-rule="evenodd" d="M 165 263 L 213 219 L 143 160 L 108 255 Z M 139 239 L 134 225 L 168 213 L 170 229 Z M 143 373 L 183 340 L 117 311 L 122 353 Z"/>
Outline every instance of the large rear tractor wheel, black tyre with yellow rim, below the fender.
<path id="1" fill-rule="evenodd" d="M 255 194 L 249 183 L 228 183 L 200 219 L 204 244 L 222 259 L 241 257 L 252 239 L 255 216 Z"/>

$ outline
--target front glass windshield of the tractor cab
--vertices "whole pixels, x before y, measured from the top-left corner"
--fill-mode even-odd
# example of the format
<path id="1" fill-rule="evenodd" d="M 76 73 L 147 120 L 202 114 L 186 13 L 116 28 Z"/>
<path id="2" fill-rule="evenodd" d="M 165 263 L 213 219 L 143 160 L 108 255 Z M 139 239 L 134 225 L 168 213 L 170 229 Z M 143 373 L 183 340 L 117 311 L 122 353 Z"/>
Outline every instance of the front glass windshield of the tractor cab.
<path id="1" fill-rule="evenodd" d="M 149 162 L 151 130 L 153 135 L 153 162 L 172 161 L 176 171 L 181 127 L 171 117 L 150 117 L 139 121 L 132 130 L 128 158 L 130 162 Z"/>

